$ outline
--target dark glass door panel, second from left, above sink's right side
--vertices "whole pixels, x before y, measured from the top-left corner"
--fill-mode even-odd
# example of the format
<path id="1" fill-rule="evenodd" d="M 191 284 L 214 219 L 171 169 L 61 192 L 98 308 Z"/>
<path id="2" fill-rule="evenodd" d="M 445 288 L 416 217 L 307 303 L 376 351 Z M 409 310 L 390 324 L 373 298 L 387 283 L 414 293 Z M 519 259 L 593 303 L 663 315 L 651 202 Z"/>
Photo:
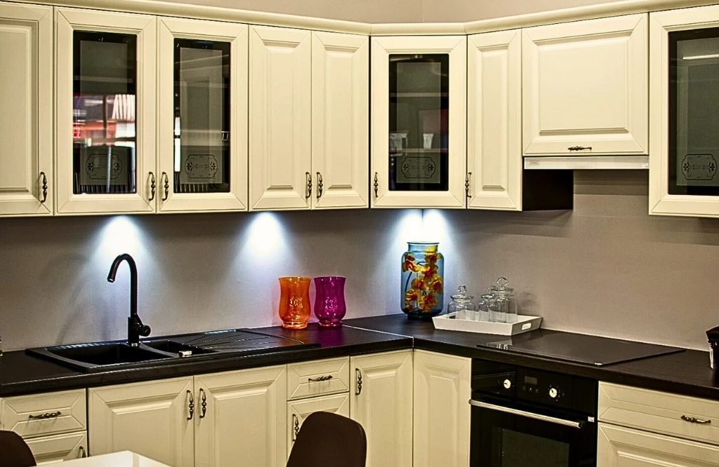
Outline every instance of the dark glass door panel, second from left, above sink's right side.
<path id="1" fill-rule="evenodd" d="M 175 39 L 174 193 L 229 192 L 229 52 Z"/>

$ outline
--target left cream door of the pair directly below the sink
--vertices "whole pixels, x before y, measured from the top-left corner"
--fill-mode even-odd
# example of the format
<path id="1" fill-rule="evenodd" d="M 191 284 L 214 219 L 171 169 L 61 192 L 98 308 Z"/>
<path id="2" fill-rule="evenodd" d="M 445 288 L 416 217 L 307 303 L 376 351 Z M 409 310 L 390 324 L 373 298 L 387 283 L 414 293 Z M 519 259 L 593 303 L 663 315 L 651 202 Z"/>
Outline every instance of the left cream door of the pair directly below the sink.
<path id="1" fill-rule="evenodd" d="M 88 389 L 90 454 L 132 450 L 173 467 L 194 465 L 193 379 Z M 194 402 L 194 412 L 190 403 Z"/>

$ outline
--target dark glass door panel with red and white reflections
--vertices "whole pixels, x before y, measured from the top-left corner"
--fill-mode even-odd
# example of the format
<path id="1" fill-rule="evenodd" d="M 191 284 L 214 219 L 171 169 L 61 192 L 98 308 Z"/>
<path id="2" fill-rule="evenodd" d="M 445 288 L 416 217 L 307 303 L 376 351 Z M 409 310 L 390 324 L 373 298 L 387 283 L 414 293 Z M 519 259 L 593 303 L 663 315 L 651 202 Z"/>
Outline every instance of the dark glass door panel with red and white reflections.
<path id="1" fill-rule="evenodd" d="M 73 32 L 73 193 L 137 193 L 137 36 Z"/>

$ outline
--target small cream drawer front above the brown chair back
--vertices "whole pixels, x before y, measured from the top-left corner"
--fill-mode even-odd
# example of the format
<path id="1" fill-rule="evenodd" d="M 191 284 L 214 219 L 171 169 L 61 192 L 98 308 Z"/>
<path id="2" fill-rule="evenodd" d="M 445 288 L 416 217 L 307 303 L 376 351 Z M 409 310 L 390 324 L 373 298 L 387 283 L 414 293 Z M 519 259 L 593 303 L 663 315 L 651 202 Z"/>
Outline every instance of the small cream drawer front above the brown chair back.
<path id="1" fill-rule="evenodd" d="M 287 398 L 349 391 L 349 357 L 288 365 Z"/>

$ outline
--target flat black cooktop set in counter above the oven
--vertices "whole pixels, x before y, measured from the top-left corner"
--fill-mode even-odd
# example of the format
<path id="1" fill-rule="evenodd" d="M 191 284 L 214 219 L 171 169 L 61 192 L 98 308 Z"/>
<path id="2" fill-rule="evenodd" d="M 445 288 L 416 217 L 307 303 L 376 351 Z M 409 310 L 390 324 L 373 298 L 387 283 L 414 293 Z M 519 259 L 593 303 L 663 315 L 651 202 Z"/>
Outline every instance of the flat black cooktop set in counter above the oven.
<path id="1" fill-rule="evenodd" d="M 528 353 L 577 364 L 605 366 L 684 351 L 683 348 L 586 334 L 541 329 L 511 338 L 477 344 L 480 347 Z"/>

